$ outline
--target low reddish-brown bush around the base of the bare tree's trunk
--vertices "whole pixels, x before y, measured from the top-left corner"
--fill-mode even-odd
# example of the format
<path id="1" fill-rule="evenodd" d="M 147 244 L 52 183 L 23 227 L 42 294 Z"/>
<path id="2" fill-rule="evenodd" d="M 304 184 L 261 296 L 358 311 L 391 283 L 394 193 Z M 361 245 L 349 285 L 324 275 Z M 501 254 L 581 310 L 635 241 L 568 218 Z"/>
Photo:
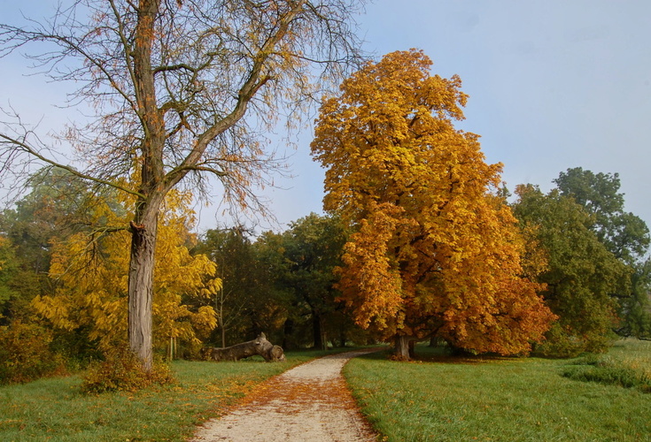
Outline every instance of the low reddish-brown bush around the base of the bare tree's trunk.
<path id="1" fill-rule="evenodd" d="M 128 349 L 113 349 L 104 361 L 93 362 L 83 376 L 81 390 L 87 393 L 136 392 L 151 385 L 171 384 L 174 381 L 167 365 L 156 361 L 151 370 Z"/>

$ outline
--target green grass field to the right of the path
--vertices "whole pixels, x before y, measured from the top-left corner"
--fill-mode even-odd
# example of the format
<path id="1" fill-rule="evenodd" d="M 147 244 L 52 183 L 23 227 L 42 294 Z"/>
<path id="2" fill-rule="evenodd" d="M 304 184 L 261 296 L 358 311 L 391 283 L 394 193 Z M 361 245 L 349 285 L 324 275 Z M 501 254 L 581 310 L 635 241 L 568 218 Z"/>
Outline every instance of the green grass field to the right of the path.
<path id="1" fill-rule="evenodd" d="M 643 392 L 644 385 L 624 388 L 563 376 L 570 369 L 617 366 L 644 378 L 651 342 L 621 341 L 593 358 L 606 363 L 591 365 L 460 360 L 428 347 L 417 352 L 424 361 L 391 362 L 386 354 L 370 354 L 345 367 L 362 411 L 388 441 L 651 441 L 651 394 Z"/>

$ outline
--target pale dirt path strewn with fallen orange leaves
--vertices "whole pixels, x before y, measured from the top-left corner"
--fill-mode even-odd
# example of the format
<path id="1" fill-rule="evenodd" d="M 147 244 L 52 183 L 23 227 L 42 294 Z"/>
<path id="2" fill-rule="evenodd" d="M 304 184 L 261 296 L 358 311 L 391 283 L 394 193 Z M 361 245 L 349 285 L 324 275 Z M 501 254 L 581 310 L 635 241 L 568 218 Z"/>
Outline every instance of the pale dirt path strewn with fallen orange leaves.
<path id="1" fill-rule="evenodd" d="M 345 385 L 341 369 L 354 356 L 376 350 L 332 354 L 272 378 L 229 415 L 200 427 L 194 442 L 373 441 Z"/>

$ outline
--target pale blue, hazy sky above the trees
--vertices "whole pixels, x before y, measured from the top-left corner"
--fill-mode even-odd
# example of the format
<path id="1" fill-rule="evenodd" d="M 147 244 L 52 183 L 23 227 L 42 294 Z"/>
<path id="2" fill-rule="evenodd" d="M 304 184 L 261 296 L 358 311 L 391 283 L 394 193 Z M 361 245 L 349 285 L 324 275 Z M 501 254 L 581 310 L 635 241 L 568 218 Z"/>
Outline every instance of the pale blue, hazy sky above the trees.
<path id="1" fill-rule="evenodd" d="M 52 3 L 0 0 L 7 21 L 19 8 Z M 619 173 L 625 209 L 651 225 L 651 2 L 376 0 L 358 22 L 362 49 L 376 59 L 417 48 L 433 60 L 432 73 L 461 77 L 469 103 L 458 127 L 481 135 L 486 161 L 504 164 L 509 189 L 547 191 L 571 167 Z M 21 65 L 0 61 L 0 105 L 11 100 L 24 119 L 56 125 L 53 104 L 65 93 L 24 77 Z M 312 137 L 310 129 L 298 137 L 293 178 L 263 192 L 278 224 L 259 229 L 322 211 Z M 215 225 L 213 207 L 199 210 L 199 229 Z"/>

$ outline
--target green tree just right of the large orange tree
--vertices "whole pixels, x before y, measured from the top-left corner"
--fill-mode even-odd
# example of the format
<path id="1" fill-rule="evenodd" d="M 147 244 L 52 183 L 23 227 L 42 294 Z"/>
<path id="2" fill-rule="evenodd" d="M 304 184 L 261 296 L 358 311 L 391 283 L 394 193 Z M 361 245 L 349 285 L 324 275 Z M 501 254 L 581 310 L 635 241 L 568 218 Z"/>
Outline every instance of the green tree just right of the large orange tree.
<path id="1" fill-rule="evenodd" d="M 559 316 L 540 351 L 570 356 L 602 351 L 617 322 L 612 293 L 626 291 L 630 271 L 593 231 L 594 217 L 554 189 L 520 186 L 515 216 L 534 245 L 544 251 L 547 267 L 539 274 L 546 304 Z"/>

